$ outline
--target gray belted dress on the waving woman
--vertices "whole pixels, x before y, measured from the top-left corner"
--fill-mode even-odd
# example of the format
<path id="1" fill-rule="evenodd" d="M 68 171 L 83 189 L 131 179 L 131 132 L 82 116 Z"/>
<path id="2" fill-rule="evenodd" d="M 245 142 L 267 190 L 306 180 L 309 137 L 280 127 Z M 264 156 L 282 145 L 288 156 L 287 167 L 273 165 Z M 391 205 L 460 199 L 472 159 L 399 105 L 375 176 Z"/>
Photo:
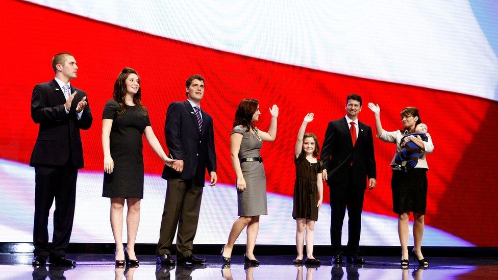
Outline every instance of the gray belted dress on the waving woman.
<path id="1" fill-rule="evenodd" d="M 256 129 L 256 131 L 258 131 Z M 259 157 L 263 142 L 253 133 L 246 131 L 241 125 L 235 126 L 232 133 L 242 134 L 239 159 Z M 259 216 L 268 214 L 266 205 L 266 176 L 263 163 L 259 161 L 243 162 L 240 164 L 246 189 L 237 190 L 238 216 Z M 237 184 L 237 180 L 235 182 Z"/>

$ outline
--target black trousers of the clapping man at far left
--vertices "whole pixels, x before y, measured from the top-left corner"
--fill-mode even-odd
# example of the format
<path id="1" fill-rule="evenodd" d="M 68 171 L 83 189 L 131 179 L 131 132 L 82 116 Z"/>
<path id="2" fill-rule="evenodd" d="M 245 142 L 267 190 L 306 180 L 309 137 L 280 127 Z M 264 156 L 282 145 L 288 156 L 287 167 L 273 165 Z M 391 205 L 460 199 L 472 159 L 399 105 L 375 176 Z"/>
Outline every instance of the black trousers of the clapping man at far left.
<path id="1" fill-rule="evenodd" d="M 71 237 L 76 201 L 78 169 L 72 164 L 35 167 L 35 220 L 33 243 L 35 256 L 64 255 Z M 54 234 L 48 245 L 48 215 L 55 198 Z"/>

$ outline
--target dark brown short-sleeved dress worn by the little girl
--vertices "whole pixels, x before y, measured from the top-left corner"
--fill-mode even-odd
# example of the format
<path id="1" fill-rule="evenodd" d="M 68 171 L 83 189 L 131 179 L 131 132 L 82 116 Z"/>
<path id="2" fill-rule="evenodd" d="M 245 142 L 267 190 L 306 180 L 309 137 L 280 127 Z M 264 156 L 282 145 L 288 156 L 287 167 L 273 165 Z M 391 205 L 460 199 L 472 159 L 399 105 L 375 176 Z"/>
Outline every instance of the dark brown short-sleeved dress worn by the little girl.
<path id="1" fill-rule="evenodd" d="M 318 220 L 318 187 L 316 175 L 322 172 L 321 162 L 311 163 L 304 152 L 294 158 L 296 180 L 294 183 L 294 208 L 292 217 Z"/>

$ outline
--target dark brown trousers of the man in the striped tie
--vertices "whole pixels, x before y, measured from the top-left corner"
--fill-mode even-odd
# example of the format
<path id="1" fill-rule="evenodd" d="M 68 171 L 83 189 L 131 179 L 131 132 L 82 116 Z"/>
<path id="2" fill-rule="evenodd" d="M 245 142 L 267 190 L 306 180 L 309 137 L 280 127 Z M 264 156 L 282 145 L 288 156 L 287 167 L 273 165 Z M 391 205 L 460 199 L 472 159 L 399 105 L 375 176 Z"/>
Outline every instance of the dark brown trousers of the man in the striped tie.
<path id="1" fill-rule="evenodd" d="M 192 254 L 201 209 L 203 187 L 195 180 L 170 179 L 166 189 L 164 211 L 156 254 L 171 254 L 171 243 L 177 231 L 177 256 Z"/>

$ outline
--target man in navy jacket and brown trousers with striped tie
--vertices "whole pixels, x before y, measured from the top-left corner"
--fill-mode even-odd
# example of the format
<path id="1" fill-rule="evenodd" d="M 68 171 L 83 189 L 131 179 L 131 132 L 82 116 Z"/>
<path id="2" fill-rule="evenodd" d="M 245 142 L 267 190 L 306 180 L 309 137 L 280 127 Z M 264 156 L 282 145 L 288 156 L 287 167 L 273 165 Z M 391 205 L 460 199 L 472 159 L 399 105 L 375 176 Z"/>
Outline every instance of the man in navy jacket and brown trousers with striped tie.
<path id="1" fill-rule="evenodd" d="M 209 185 L 214 186 L 217 182 L 213 119 L 200 107 L 204 96 L 204 78 L 201 75 L 188 78 L 185 91 L 185 102 L 169 105 L 164 126 L 170 157 L 177 160 L 172 167 L 164 166 L 162 174 L 168 186 L 156 261 L 165 265 L 175 264 L 175 259 L 171 257 L 171 244 L 177 225 L 178 263 L 206 262 L 192 254 L 206 168 L 211 177 Z"/>

